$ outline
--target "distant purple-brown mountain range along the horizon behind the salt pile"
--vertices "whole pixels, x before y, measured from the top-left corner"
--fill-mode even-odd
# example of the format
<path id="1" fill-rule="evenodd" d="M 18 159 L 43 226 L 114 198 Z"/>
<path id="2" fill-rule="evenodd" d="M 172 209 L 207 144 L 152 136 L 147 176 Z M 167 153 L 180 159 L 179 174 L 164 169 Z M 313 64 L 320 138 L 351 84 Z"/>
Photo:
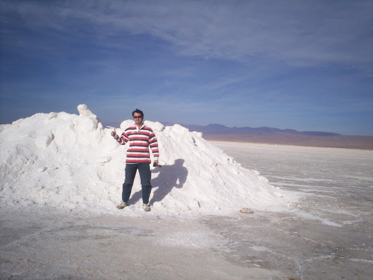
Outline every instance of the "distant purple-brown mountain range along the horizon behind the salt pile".
<path id="1" fill-rule="evenodd" d="M 162 124 L 172 126 L 175 123 L 162 122 Z M 112 122 L 104 123 L 104 125 L 119 127 L 120 124 Z M 189 131 L 202 132 L 206 140 L 373 150 L 373 136 L 348 136 L 331 132 L 296 131 L 271 127 L 227 127 L 221 124 L 180 125 Z"/>

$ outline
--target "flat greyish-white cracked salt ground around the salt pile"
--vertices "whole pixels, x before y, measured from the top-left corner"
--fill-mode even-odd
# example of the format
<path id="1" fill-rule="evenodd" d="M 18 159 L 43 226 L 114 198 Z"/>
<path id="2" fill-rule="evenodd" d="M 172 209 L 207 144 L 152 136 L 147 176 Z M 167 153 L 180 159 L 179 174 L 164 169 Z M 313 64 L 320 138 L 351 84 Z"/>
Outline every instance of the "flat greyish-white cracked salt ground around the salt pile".
<path id="1" fill-rule="evenodd" d="M 0 278 L 372 279 L 373 151 L 213 144 L 305 196 L 224 217 L 1 207 Z"/>

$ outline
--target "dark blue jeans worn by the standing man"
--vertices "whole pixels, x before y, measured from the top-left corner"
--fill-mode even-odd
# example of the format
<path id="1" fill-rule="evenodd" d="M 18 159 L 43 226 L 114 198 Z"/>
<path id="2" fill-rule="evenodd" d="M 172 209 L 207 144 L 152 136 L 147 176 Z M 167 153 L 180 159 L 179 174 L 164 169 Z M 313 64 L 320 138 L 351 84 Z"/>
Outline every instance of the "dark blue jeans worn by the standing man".
<path id="1" fill-rule="evenodd" d="M 132 186 L 134 176 L 136 171 L 140 174 L 141 181 L 141 191 L 142 191 L 142 203 L 149 203 L 149 196 L 152 190 L 152 185 L 150 184 L 150 179 L 152 178 L 152 172 L 150 171 L 150 166 L 148 163 L 139 163 L 139 164 L 126 164 L 125 168 L 125 179 L 123 183 L 123 193 L 122 200 L 123 202 L 128 202 L 131 196 Z"/>

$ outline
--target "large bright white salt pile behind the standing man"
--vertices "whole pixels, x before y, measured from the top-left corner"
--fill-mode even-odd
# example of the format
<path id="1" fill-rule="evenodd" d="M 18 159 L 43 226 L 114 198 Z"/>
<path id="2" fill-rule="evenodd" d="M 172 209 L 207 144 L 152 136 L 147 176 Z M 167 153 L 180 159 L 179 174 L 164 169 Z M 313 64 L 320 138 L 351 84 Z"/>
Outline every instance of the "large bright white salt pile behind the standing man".
<path id="1" fill-rule="evenodd" d="M 127 145 L 85 105 L 79 115 L 37 113 L 0 125 L 0 205 L 53 206 L 98 213 L 145 215 L 138 174 L 130 206 L 118 210 Z M 118 135 L 133 120 L 122 122 Z M 298 196 L 268 184 L 222 150 L 180 125 L 145 121 L 159 141 L 152 168 L 152 211 L 146 215 L 226 215 L 242 207 L 281 211 Z"/>

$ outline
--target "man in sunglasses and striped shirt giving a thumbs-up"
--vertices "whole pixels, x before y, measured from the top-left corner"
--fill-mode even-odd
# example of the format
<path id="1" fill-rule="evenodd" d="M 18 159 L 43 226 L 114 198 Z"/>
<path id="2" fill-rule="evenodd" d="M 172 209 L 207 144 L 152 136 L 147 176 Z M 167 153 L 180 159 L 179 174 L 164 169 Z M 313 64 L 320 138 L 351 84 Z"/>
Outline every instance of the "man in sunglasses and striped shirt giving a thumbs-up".
<path id="1" fill-rule="evenodd" d="M 134 126 L 126 128 L 122 133 L 121 137 L 116 134 L 116 130 L 111 132 L 111 136 L 121 145 L 125 145 L 130 142 L 130 147 L 127 150 L 126 157 L 126 168 L 125 168 L 125 180 L 123 183 L 122 201 L 117 206 L 118 209 L 123 209 L 128 206 L 128 200 L 131 196 L 133 180 L 138 169 L 141 181 L 141 192 L 142 192 L 142 203 L 143 208 L 146 212 L 150 211 L 149 196 L 152 189 L 150 179 L 152 173 L 150 171 L 149 164 L 150 151 L 152 149 L 154 156 L 154 166 L 158 165 L 158 158 L 160 156 L 158 150 L 158 141 L 153 130 L 145 126 L 142 122 L 144 119 L 144 113 L 138 109 L 132 112 L 132 116 L 135 122 Z"/>

